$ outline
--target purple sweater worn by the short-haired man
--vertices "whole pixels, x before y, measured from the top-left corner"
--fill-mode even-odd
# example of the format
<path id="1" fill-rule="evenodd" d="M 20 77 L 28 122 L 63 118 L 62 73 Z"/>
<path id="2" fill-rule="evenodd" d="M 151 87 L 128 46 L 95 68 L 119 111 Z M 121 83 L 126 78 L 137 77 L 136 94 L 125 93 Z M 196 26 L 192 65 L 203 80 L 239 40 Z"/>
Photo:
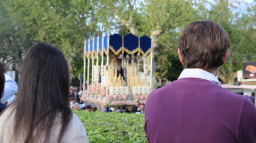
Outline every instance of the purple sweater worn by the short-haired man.
<path id="1" fill-rule="evenodd" d="M 253 143 L 256 108 L 205 79 L 178 79 L 149 94 L 145 132 L 149 143 Z"/>

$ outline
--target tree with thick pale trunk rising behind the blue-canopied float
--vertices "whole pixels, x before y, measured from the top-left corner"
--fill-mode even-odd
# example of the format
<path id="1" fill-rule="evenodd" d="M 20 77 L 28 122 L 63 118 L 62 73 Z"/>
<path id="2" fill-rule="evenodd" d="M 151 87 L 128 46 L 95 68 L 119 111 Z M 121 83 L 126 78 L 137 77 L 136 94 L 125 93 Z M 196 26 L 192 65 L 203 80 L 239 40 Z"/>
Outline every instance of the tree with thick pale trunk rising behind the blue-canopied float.
<path id="1" fill-rule="evenodd" d="M 178 59 L 173 55 L 176 54 L 177 37 L 187 23 L 200 18 L 198 8 L 202 7 L 202 1 L 99 0 L 95 4 L 98 8 L 96 13 L 105 28 L 122 25 L 122 28 L 125 26 L 128 29 L 125 34 L 131 32 L 137 36 L 151 37 L 158 65 L 163 65 L 157 67 L 157 77 L 173 80 L 167 76 L 172 71 L 170 68 L 175 67 L 169 58 Z M 181 72 L 181 68 L 176 69 Z"/>

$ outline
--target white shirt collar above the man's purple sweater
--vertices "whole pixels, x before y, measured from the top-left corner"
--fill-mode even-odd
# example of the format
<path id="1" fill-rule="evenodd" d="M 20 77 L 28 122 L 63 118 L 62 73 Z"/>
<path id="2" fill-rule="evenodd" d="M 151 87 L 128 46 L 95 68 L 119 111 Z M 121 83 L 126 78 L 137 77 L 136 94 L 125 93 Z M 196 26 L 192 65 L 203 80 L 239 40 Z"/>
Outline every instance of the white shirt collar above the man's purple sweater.
<path id="1" fill-rule="evenodd" d="M 202 70 L 200 68 L 185 68 L 178 79 L 181 78 L 199 78 L 199 79 L 205 79 L 208 81 L 213 82 L 216 85 L 219 85 L 221 87 L 221 84 L 216 76 L 209 73 L 208 71 Z"/>

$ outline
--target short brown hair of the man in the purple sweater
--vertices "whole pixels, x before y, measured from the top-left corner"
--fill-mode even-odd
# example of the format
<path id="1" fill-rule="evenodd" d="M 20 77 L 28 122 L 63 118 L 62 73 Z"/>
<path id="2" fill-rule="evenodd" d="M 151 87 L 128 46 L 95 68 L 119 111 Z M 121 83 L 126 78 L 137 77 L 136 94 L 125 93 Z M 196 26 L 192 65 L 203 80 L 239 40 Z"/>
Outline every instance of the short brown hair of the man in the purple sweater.
<path id="1" fill-rule="evenodd" d="M 178 48 L 184 68 L 216 70 L 224 64 L 230 42 L 226 31 L 211 20 L 192 22 L 184 29 Z"/>

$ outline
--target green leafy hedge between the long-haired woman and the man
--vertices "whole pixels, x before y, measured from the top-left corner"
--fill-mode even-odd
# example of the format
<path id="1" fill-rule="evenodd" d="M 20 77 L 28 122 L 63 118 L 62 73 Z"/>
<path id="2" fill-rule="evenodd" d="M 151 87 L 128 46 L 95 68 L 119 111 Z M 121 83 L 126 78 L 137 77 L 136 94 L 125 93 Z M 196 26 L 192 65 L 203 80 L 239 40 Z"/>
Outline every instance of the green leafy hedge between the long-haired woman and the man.
<path id="1" fill-rule="evenodd" d="M 144 114 L 73 112 L 86 127 L 90 142 L 146 142 Z"/>

